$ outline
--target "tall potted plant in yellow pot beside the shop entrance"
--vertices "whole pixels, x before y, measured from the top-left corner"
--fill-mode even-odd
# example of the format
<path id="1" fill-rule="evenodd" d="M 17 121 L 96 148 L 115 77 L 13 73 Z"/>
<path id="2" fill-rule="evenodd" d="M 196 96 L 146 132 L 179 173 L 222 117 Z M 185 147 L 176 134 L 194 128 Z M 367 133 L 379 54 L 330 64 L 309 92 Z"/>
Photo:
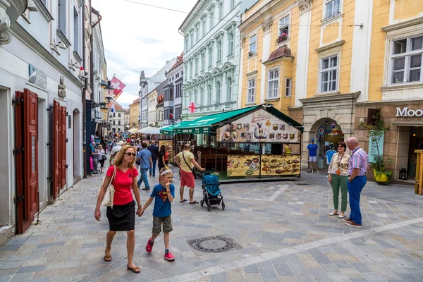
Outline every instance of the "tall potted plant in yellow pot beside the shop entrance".
<path id="1" fill-rule="evenodd" d="M 373 159 L 369 160 L 370 166 L 373 168 L 376 183 L 379 185 L 386 185 L 392 178 L 392 172 L 387 171 L 386 166 L 391 166 L 393 159 L 384 159 L 384 155 L 380 152 L 379 141 L 389 127 L 386 127 L 384 121 L 381 119 L 381 108 L 376 109 L 376 114 L 374 114 L 372 118 L 374 118 L 374 122 L 372 124 L 365 125 L 361 122 L 360 126 L 367 129 L 367 136 L 369 137 L 369 140 L 374 142 L 376 145 L 377 154 Z"/>

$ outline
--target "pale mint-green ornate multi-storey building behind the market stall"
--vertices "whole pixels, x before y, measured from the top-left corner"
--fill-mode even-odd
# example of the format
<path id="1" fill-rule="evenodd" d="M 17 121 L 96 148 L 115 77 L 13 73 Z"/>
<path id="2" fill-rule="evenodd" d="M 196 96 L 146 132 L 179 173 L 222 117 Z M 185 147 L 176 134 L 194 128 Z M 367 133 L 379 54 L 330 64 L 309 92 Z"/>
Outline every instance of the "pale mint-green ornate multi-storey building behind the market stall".
<path id="1" fill-rule="evenodd" d="M 255 0 L 199 0 L 180 25 L 184 35 L 182 118 L 237 108 L 240 12 Z M 188 114 L 188 104 L 197 111 Z"/>

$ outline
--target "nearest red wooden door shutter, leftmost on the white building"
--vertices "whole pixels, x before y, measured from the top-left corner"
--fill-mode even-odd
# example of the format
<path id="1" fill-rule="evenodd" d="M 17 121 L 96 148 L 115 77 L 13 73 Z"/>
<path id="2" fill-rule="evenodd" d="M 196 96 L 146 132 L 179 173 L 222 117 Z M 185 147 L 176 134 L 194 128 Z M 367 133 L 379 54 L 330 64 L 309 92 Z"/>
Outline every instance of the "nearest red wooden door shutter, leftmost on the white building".
<path id="1" fill-rule="evenodd" d="M 16 177 L 18 233 L 34 221 L 38 207 L 38 95 L 16 92 Z M 22 100 L 23 99 L 23 100 Z M 23 102 L 22 102 L 23 101 Z"/>

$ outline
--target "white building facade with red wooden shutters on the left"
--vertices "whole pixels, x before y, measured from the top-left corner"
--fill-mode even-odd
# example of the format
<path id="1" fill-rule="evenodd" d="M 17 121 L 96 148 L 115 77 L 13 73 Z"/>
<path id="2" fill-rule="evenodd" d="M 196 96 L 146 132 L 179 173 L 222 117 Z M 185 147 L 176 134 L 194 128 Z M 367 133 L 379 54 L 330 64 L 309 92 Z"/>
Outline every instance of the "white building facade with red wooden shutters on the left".
<path id="1" fill-rule="evenodd" d="M 0 22 L 11 23 L 0 25 L 0 225 L 10 233 L 23 233 L 83 176 L 78 74 L 90 9 L 83 1 L 31 3 L 0 1 Z"/>

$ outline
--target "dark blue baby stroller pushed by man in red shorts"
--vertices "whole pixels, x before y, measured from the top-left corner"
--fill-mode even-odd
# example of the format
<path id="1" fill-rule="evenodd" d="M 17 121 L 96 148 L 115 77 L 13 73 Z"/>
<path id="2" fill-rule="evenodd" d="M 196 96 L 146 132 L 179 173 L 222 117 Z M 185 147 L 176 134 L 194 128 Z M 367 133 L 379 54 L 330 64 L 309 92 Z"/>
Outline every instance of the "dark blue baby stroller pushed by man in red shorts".
<path id="1" fill-rule="evenodd" d="M 211 171 L 206 171 L 202 174 L 202 189 L 203 200 L 200 201 L 201 206 L 207 204 L 207 210 L 212 210 L 212 205 L 222 204 L 222 209 L 225 210 L 225 202 L 219 188 L 219 178 Z"/>

